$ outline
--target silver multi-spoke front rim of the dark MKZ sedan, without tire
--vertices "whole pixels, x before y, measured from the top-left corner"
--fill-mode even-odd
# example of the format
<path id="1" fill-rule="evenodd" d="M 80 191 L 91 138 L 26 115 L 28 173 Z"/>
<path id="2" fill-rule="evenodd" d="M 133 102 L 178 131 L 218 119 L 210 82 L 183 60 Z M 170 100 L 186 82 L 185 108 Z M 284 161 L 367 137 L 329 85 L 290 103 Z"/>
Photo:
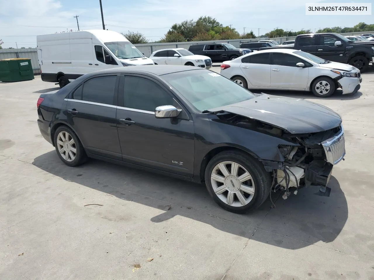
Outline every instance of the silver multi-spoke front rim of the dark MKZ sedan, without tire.
<path id="1" fill-rule="evenodd" d="M 255 193 L 251 174 L 233 161 L 220 162 L 213 168 L 211 184 L 215 195 L 233 207 L 247 205 Z"/>

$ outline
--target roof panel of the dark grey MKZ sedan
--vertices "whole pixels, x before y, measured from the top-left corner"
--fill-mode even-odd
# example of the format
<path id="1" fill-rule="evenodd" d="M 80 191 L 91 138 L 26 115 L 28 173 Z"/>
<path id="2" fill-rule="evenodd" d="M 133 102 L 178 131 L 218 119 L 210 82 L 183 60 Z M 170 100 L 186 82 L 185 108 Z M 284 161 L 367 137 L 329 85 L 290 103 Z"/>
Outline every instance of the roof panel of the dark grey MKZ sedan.
<path id="1" fill-rule="evenodd" d="M 141 72 L 153 74 L 156 76 L 161 76 L 170 73 L 191 71 L 191 70 L 203 70 L 205 68 L 195 67 L 195 66 L 186 66 L 186 65 L 136 65 L 136 66 L 123 66 L 110 69 L 99 70 L 91 72 L 90 74 L 126 74 L 126 73 L 138 73 Z"/>

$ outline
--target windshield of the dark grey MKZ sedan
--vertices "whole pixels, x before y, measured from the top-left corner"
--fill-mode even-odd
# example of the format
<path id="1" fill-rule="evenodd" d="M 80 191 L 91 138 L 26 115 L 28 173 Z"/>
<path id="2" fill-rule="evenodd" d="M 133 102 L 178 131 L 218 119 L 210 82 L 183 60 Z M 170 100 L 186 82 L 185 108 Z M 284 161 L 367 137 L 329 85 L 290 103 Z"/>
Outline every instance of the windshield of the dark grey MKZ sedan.
<path id="1" fill-rule="evenodd" d="M 201 112 L 255 97 L 241 85 L 206 69 L 166 74 L 162 78 Z"/>

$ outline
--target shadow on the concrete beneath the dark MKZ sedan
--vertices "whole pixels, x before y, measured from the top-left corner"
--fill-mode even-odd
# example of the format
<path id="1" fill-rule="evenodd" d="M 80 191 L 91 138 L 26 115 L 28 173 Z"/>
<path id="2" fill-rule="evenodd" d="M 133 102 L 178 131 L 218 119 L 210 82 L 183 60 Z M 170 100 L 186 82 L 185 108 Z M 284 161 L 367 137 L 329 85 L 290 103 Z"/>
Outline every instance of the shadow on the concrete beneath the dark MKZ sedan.
<path id="1" fill-rule="evenodd" d="M 33 164 L 64 180 L 164 210 L 151 218 L 154 223 L 179 215 L 260 242 L 264 242 L 261 234 L 264 230 L 294 238 L 282 243 L 279 242 L 280 236 L 274 235 L 266 240 L 266 243 L 287 249 L 302 248 L 318 241 L 334 241 L 348 218 L 346 198 L 334 177 L 329 182 L 330 197 L 315 195 L 318 191 L 315 187 L 299 190 L 297 196 L 291 195 L 287 200 L 277 192 L 272 193 L 276 208 L 270 207 L 272 204 L 268 198 L 257 211 L 240 215 L 218 206 L 202 184 L 93 159 L 80 167 L 68 167 L 54 150 L 38 156 Z M 255 228 L 261 230 L 252 236 Z"/>

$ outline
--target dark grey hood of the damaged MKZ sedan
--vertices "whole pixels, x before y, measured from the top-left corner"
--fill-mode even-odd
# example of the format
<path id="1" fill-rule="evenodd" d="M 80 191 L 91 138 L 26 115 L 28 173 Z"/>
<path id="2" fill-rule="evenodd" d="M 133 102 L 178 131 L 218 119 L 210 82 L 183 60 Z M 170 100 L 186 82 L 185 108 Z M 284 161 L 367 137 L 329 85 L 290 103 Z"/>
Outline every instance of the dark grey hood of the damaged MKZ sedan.
<path id="1" fill-rule="evenodd" d="M 323 105 L 267 94 L 208 111 L 235 113 L 274 125 L 292 134 L 315 133 L 341 124 L 340 116 Z"/>

